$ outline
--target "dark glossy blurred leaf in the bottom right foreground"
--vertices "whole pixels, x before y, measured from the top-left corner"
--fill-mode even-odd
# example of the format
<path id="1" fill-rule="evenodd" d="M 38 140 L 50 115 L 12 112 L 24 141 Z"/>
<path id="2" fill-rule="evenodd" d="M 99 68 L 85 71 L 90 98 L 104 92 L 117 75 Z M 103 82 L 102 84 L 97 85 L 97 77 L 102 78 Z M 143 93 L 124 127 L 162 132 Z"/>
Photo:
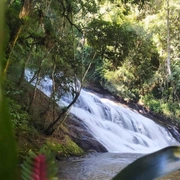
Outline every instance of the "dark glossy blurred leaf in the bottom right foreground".
<path id="1" fill-rule="evenodd" d="M 180 147 L 170 146 L 135 160 L 112 180 L 153 180 L 178 169 Z"/>

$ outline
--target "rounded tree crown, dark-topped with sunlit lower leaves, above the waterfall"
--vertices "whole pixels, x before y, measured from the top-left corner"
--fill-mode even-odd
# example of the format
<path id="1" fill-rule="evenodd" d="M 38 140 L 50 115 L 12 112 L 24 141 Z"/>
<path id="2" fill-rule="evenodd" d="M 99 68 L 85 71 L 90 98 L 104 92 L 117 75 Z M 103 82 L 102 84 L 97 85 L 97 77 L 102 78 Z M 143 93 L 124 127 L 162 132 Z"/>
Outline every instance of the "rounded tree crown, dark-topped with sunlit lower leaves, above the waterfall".
<path id="1" fill-rule="evenodd" d="M 96 80 L 110 92 L 138 101 L 147 90 L 144 84 L 159 67 L 151 35 L 146 34 L 142 26 L 128 22 L 94 20 L 89 26 L 93 31 L 88 42 L 101 57 L 94 62 Z"/>

